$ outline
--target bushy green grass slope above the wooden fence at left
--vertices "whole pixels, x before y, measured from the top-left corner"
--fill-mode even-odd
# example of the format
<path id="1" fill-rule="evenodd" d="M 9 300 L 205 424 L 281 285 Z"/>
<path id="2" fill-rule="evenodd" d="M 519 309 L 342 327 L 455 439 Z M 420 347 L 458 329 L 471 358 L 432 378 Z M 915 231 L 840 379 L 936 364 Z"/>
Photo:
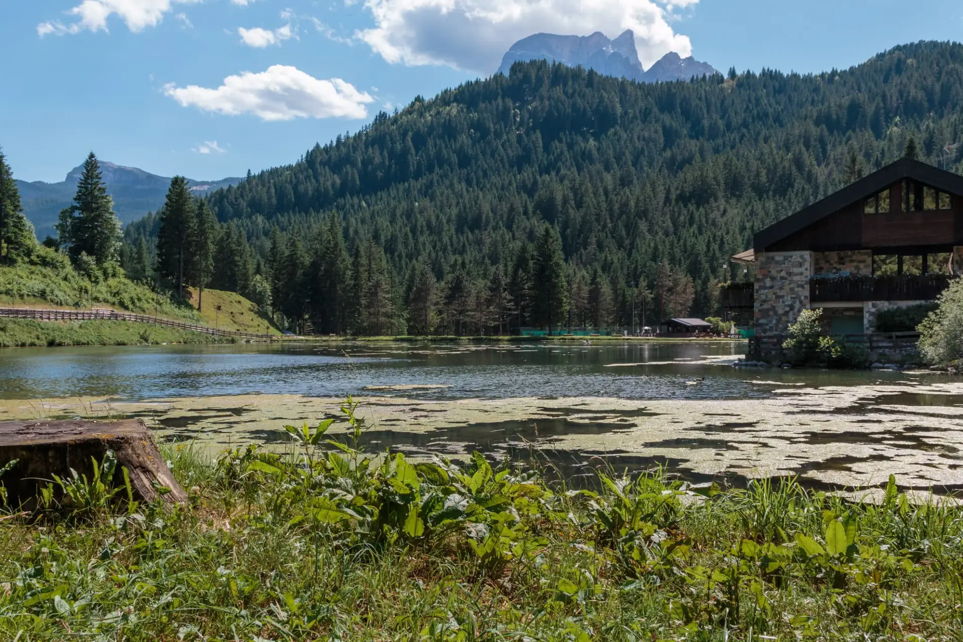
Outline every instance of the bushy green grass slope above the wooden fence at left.
<path id="1" fill-rule="evenodd" d="M 66 257 L 39 247 L 31 263 L 0 265 L 0 307 L 112 307 L 169 319 L 198 322 L 190 305 L 179 305 L 122 276 L 96 283 L 78 274 Z"/>

